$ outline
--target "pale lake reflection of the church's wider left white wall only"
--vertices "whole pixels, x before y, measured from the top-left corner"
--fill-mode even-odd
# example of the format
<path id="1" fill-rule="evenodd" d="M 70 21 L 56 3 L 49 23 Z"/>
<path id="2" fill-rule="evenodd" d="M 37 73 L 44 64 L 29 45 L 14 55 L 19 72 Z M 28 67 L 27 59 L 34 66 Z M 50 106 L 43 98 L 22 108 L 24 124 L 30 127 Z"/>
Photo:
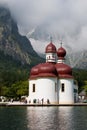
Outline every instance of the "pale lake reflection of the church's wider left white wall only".
<path id="1" fill-rule="evenodd" d="M 57 108 L 55 108 L 57 109 Z M 30 130 L 56 130 L 54 128 L 53 120 L 56 122 L 54 108 L 27 108 L 27 119 L 28 119 L 28 128 Z"/>

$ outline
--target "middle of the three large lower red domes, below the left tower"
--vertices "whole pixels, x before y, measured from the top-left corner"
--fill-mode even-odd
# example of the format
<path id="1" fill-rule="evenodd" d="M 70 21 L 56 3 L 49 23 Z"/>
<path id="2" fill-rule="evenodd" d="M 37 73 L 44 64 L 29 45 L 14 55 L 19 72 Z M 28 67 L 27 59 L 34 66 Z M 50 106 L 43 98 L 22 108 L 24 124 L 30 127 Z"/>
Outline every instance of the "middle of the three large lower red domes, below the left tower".
<path id="1" fill-rule="evenodd" d="M 57 71 L 55 68 L 55 64 L 52 63 L 43 63 L 39 66 L 39 76 L 41 77 L 55 77 L 57 75 Z"/>

